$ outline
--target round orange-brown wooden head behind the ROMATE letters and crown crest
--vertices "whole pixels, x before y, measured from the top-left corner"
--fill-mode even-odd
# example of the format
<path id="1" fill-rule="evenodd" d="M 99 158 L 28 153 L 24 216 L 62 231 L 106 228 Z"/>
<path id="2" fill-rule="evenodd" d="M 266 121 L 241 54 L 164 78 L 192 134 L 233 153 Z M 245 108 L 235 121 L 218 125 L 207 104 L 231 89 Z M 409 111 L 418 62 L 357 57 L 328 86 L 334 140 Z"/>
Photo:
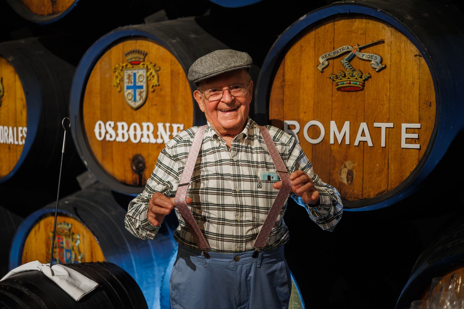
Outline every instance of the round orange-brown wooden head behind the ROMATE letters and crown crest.
<path id="1" fill-rule="evenodd" d="M 322 73 L 316 69 L 324 53 L 380 39 L 385 43 L 361 52 L 380 55 L 382 64 L 386 64 L 384 69 L 376 72 L 370 61 L 358 57 L 350 62 L 354 69 L 371 74 L 361 91 L 336 90 L 328 77 L 345 70 L 340 60 L 348 53 L 329 59 Z M 323 20 L 298 35 L 277 69 L 269 103 L 271 124 L 282 128 L 284 120 L 298 121 L 300 145 L 316 174 L 339 189 L 348 201 L 383 195 L 411 174 L 425 154 L 435 113 L 432 76 L 419 51 L 391 25 L 363 15 Z M 320 121 L 325 128 L 324 139 L 316 145 L 303 135 L 304 125 L 310 120 Z M 349 145 L 345 145 L 344 137 L 341 145 L 336 137 L 335 144 L 329 143 L 330 120 L 336 122 L 339 131 L 345 121 L 350 121 Z M 372 147 L 363 141 L 354 145 L 361 122 L 367 123 Z M 374 127 L 374 122 L 394 124 L 386 130 L 386 147 L 380 145 L 381 129 Z M 406 139 L 406 143 L 420 144 L 420 149 L 401 148 L 402 123 L 421 124 L 420 129 L 406 131 L 419 133 L 419 139 Z M 319 128 L 311 126 L 308 135 L 317 138 Z"/>

